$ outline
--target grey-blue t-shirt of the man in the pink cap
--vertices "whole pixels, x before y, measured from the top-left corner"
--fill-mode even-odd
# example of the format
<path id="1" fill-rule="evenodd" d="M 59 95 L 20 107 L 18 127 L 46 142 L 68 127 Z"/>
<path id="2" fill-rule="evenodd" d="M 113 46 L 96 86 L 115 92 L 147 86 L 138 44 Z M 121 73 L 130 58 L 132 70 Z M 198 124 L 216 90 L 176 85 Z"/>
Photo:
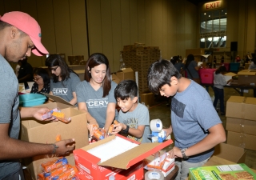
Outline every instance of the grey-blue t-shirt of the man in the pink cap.
<path id="1" fill-rule="evenodd" d="M 20 114 L 18 110 L 18 79 L 14 70 L 0 54 L 0 123 L 9 123 L 8 135 L 18 139 Z M 16 173 L 21 167 L 18 159 L 0 160 L 0 179 Z"/>

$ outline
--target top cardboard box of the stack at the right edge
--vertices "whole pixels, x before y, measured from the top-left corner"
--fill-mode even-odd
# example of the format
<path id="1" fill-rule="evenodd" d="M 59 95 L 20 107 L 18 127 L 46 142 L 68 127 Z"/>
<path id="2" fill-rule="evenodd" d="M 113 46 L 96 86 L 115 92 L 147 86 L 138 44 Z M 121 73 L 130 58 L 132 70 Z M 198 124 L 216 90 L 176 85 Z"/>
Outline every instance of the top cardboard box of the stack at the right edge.
<path id="1" fill-rule="evenodd" d="M 256 98 L 230 96 L 226 102 L 226 117 L 256 121 Z"/>

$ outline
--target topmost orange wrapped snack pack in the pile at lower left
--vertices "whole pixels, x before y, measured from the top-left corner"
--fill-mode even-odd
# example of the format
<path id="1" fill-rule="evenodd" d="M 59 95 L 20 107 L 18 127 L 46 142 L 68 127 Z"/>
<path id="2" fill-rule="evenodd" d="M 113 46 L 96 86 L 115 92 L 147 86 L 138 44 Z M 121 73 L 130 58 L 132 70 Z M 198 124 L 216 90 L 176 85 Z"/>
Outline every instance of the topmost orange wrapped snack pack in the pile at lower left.
<path id="1" fill-rule="evenodd" d="M 42 170 L 45 172 L 50 172 L 51 170 L 55 170 L 61 166 L 68 164 L 66 158 L 57 158 L 49 162 L 42 162 Z"/>

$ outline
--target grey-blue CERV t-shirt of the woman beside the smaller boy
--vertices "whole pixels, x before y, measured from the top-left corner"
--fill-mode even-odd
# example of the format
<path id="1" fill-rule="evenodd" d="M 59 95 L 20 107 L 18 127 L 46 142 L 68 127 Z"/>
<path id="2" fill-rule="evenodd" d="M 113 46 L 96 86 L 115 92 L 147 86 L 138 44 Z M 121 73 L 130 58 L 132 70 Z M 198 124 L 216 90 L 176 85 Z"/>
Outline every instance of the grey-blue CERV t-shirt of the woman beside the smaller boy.
<path id="1" fill-rule="evenodd" d="M 117 86 L 115 82 L 111 82 L 111 89 L 106 97 L 103 96 L 103 88 L 100 87 L 98 90 L 94 90 L 90 86 L 90 82 L 82 81 L 78 83 L 76 94 L 79 102 L 86 102 L 88 112 L 92 117 L 96 119 L 99 127 L 104 127 L 106 122 L 106 109 L 110 102 L 116 103 L 114 98 L 114 88 Z M 117 110 L 115 112 L 115 119 L 117 117 Z M 113 119 L 114 120 L 114 119 Z"/>

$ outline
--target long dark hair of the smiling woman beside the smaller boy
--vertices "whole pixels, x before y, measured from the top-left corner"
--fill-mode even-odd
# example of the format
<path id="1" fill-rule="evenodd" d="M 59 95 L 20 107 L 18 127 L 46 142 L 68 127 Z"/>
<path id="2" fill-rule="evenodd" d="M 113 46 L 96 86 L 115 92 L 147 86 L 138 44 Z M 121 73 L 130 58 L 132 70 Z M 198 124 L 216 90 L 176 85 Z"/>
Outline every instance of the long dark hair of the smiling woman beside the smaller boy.
<path id="1" fill-rule="evenodd" d="M 86 62 L 86 69 L 85 69 L 85 80 L 86 82 L 90 82 L 91 74 L 90 70 L 95 66 L 105 64 L 106 65 L 106 76 L 102 82 L 102 89 L 103 89 L 103 96 L 102 98 L 106 97 L 110 93 L 111 89 L 111 72 L 110 72 L 110 64 L 109 60 L 106 58 L 104 54 L 101 53 L 94 53 L 91 54 Z"/>

